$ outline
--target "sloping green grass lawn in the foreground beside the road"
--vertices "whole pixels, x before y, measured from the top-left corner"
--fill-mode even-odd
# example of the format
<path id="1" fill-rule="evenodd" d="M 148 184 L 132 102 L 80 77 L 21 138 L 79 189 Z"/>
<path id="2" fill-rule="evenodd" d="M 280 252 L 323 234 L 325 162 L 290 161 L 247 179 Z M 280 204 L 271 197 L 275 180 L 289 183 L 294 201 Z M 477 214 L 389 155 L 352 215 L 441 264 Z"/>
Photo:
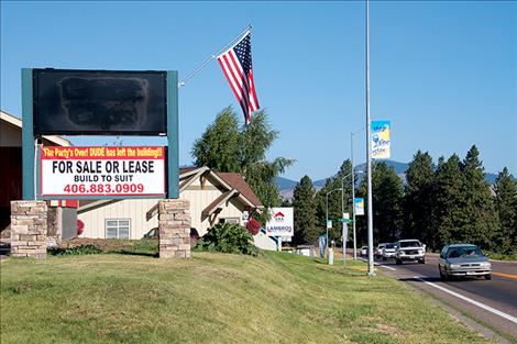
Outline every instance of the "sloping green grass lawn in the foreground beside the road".
<path id="1" fill-rule="evenodd" d="M 362 263 L 287 253 L 11 258 L 1 298 L 2 344 L 487 343 Z"/>

